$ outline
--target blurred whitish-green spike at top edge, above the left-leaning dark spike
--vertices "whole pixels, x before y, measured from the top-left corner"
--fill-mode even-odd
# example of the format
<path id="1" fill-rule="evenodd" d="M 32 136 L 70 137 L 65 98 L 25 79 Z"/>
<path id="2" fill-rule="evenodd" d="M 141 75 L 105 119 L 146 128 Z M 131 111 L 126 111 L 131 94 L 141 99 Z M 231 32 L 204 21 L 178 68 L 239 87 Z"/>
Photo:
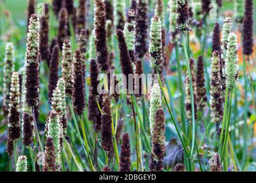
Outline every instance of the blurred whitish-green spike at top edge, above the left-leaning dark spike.
<path id="1" fill-rule="evenodd" d="M 116 29 L 124 30 L 125 23 L 125 1 L 114 0 L 114 18 Z"/>

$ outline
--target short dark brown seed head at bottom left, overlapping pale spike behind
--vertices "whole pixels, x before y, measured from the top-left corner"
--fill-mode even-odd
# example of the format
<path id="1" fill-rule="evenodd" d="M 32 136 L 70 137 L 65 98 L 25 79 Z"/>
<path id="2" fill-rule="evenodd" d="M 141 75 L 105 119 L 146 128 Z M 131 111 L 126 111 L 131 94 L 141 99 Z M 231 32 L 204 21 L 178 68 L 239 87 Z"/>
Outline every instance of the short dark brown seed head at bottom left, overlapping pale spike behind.
<path id="1" fill-rule="evenodd" d="M 55 172 L 55 148 L 53 145 L 53 138 L 47 137 L 45 142 L 45 164 L 44 172 Z"/>

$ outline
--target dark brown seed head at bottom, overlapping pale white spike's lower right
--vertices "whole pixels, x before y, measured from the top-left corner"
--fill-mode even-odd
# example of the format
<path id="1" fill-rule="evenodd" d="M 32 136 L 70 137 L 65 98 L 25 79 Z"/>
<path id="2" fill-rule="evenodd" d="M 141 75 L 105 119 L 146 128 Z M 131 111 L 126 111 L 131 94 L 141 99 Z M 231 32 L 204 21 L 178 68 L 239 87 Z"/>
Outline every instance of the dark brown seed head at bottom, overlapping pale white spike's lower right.
<path id="1" fill-rule="evenodd" d="M 162 108 L 156 110 L 155 127 L 152 136 L 152 150 L 151 150 L 151 161 L 150 170 L 152 172 L 163 171 L 163 160 L 164 160 L 164 142 L 165 138 L 165 117 Z"/>

